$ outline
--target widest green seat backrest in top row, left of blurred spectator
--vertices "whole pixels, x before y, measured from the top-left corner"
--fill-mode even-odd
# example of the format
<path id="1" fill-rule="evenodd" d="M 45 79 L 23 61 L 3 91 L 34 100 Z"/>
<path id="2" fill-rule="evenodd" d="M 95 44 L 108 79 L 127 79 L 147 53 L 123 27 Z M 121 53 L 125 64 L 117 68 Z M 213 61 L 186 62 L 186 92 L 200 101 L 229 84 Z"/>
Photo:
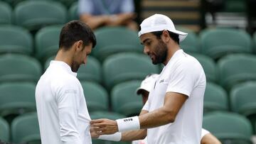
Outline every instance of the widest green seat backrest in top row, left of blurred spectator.
<path id="1" fill-rule="evenodd" d="M 63 24 L 66 17 L 67 10 L 58 1 L 22 1 L 14 9 L 15 23 L 31 31 L 43 26 Z"/>

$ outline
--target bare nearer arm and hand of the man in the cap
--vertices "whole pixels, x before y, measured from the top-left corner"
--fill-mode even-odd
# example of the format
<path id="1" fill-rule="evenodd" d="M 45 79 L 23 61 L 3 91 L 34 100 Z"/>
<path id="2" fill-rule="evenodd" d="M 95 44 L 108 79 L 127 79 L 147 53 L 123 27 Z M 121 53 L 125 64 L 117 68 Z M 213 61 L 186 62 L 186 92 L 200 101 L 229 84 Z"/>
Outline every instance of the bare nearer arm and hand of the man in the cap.
<path id="1" fill-rule="evenodd" d="M 186 99 L 188 99 L 188 96 L 184 94 L 167 92 L 163 107 L 139 116 L 139 128 L 154 128 L 157 126 L 163 126 L 167 123 L 173 123 L 178 111 L 181 109 Z M 132 121 L 134 121 L 134 119 L 132 119 Z M 125 123 L 128 122 L 124 121 L 122 125 L 126 125 Z M 97 131 L 100 135 L 112 134 L 120 131 L 117 126 L 117 121 L 112 121 L 106 118 L 92 120 L 91 124 L 92 126 L 97 127 Z"/>

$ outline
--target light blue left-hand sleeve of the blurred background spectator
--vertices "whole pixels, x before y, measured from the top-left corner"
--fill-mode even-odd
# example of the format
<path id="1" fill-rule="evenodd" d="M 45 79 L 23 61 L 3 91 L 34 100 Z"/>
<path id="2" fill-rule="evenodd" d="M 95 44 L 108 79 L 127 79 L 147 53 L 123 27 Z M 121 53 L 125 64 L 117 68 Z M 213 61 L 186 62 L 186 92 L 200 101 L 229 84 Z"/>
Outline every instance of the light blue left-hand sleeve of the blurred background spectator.
<path id="1" fill-rule="evenodd" d="M 92 13 L 92 1 L 90 0 L 79 0 L 78 1 L 78 13 L 82 14 L 82 13 L 88 13 L 91 14 Z"/>

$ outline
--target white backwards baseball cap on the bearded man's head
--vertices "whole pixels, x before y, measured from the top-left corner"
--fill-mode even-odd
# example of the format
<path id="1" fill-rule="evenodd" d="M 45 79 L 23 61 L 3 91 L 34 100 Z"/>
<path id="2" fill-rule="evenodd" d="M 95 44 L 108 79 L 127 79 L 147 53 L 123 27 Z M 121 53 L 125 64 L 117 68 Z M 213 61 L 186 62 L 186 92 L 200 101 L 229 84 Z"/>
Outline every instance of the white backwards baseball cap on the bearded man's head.
<path id="1" fill-rule="evenodd" d="M 188 35 L 188 33 L 177 31 L 171 19 L 168 16 L 164 16 L 162 14 L 154 14 L 153 16 L 149 16 L 149 18 L 144 19 L 142 24 L 140 24 L 140 28 L 141 31 L 138 33 L 139 36 L 154 31 L 168 30 L 172 33 L 178 34 L 180 42 L 186 38 L 186 35 Z"/>

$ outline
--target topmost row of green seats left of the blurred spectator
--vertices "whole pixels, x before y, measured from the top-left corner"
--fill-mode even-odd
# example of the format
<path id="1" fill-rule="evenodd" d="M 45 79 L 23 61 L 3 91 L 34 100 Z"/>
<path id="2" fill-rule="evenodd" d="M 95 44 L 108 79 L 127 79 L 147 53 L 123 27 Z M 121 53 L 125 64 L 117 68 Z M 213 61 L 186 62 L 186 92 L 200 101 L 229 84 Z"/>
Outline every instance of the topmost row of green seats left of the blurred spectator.
<path id="1" fill-rule="evenodd" d="M 78 6 L 74 2 L 66 8 L 60 1 L 21 1 L 14 9 L 0 1 L 0 24 L 23 26 L 29 31 L 37 31 L 44 26 L 63 24 L 78 19 Z"/>

